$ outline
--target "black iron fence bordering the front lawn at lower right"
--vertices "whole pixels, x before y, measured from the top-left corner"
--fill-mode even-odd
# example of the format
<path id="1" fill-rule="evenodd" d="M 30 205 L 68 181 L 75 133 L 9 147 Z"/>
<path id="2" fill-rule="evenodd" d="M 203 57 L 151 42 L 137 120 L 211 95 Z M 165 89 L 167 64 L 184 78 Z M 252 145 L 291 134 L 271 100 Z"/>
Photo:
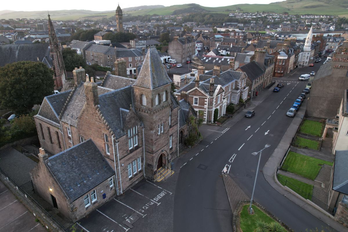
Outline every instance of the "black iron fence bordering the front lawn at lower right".
<path id="1" fill-rule="evenodd" d="M 311 193 L 300 189 L 298 186 L 296 186 L 295 184 L 291 183 L 287 179 L 282 178 L 281 176 L 277 176 L 277 179 L 278 179 L 279 183 L 282 184 L 283 186 L 289 187 L 291 190 L 293 190 L 295 193 L 299 194 L 304 199 L 310 200 L 311 202 L 315 203 L 317 206 L 319 206 L 320 208 L 325 210 L 327 213 L 329 213 L 332 216 L 334 216 L 334 209 L 331 208 L 330 206 L 328 206 L 327 204 L 325 204 L 324 202 L 322 202 L 321 200 L 319 200 L 316 197 L 314 197 Z"/>

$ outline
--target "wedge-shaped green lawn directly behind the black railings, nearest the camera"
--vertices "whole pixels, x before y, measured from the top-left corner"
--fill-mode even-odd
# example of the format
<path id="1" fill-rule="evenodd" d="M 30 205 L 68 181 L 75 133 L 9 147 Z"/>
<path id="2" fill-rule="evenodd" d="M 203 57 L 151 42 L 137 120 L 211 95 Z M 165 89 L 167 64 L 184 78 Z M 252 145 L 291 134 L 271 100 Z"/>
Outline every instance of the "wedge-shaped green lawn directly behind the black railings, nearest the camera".
<path id="1" fill-rule="evenodd" d="M 290 189 L 301 195 L 303 198 L 311 199 L 313 194 L 313 185 L 303 183 L 297 179 L 287 177 L 284 175 L 277 174 L 278 181 L 285 186 L 288 186 Z"/>

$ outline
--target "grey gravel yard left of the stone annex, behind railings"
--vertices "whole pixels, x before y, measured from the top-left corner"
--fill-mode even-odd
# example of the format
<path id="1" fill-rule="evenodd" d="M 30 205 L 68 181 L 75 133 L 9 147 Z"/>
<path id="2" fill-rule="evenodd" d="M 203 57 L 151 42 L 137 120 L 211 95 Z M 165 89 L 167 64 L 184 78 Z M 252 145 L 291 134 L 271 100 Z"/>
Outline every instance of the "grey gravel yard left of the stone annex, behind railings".
<path id="1" fill-rule="evenodd" d="M 0 168 L 7 173 L 18 185 L 30 181 L 29 172 L 37 163 L 13 147 L 0 150 Z"/>

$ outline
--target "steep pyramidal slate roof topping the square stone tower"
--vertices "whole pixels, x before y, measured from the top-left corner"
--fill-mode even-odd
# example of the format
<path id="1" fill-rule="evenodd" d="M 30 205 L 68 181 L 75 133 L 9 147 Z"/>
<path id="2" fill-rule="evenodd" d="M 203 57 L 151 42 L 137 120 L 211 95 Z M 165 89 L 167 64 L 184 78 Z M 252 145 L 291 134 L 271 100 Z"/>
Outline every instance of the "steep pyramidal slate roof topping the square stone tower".
<path id="1" fill-rule="evenodd" d="M 156 47 L 150 47 L 134 86 L 156 89 L 169 83 L 172 83 L 172 80 L 168 77 Z"/>

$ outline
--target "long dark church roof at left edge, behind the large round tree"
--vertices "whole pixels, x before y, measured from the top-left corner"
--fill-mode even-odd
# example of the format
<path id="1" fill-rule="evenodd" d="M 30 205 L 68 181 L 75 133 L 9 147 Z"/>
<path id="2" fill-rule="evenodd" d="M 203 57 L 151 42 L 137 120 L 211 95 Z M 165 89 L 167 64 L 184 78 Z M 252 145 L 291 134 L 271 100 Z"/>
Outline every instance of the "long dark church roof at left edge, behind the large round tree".
<path id="1" fill-rule="evenodd" d="M 4 44 L 0 46 L 0 67 L 18 61 L 39 61 L 49 56 L 49 43 Z"/>

